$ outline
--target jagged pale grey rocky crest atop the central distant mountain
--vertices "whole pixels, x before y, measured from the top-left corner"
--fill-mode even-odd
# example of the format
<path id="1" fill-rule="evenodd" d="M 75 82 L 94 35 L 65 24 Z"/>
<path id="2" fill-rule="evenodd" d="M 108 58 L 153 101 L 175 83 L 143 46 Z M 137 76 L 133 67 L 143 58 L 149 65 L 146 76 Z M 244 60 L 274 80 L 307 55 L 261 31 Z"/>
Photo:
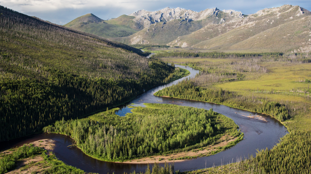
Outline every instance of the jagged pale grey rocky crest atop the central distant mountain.
<path id="1" fill-rule="evenodd" d="M 197 21 L 203 20 L 209 16 L 217 16 L 221 11 L 218 8 L 206 9 L 201 12 L 195 12 L 192 10 L 186 10 L 183 8 L 170 8 L 166 7 L 162 10 L 156 12 L 148 12 L 145 10 L 139 10 L 135 13 L 129 14 L 130 16 L 135 16 L 135 21 L 140 25 L 143 25 L 144 28 L 158 23 L 158 22 L 169 22 L 174 19 L 184 19 L 187 21 Z M 234 18 L 242 18 L 243 15 L 241 12 L 236 12 L 234 10 L 224 10 L 223 12 L 229 14 Z"/>

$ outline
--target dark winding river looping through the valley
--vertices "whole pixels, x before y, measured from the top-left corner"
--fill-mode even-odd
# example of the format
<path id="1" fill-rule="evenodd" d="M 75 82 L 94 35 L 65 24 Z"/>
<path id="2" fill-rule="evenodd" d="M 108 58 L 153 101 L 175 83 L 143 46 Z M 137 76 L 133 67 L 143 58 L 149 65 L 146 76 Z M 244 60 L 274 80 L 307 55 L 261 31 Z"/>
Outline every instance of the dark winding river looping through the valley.
<path id="1" fill-rule="evenodd" d="M 175 65 L 176 67 L 181 67 L 190 71 L 190 76 L 194 76 L 196 73 L 199 73 L 198 70 L 192 69 L 188 66 Z M 149 91 L 144 92 L 139 95 L 136 99 L 129 103 L 135 103 L 137 105 L 143 106 L 143 103 L 169 103 L 169 104 L 178 104 L 182 106 L 191 106 L 197 108 L 210 109 L 213 108 L 215 112 L 223 114 L 227 117 L 230 117 L 235 121 L 236 124 L 240 126 L 240 130 L 244 132 L 244 140 L 242 140 L 237 145 L 220 152 L 218 154 L 201 157 L 191 160 L 185 160 L 182 162 L 175 162 L 175 170 L 182 171 L 192 171 L 197 169 L 202 169 L 205 167 L 212 167 L 213 165 L 221 165 L 235 162 L 237 158 L 248 157 L 249 155 L 256 156 L 257 149 L 272 148 L 276 143 L 279 142 L 279 139 L 283 137 L 287 132 L 286 128 L 275 118 L 270 116 L 263 116 L 267 120 L 261 121 L 258 119 L 245 117 L 247 115 L 259 115 L 256 113 L 231 108 L 228 106 L 208 103 L 208 102 L 196 102 L 189 100 L 165 98 L 165 97 L 156 97 L 153 94 L 163 89 L 164 87 L 172 86 L 177 84 L 179 81 L 182 81 L 187 77 L 183 77 L 172 83 L 155 87 Z M 124 116 L 126 113 L 131 112 L 131 108 L 127 108 L 126 105 L 120 106 L 120 110 L 116 112 L 119 116 Z M 244 115 L 244 116 L 242 116 Z M 28 137 L 23 137 L 15 139 L 8 142 L 0 143 L 0 150 L 5 148 L 10 148 L 13 146 L 20 146 L 25 143 L 30 143 L 40 139 L 52 139 L 56 141 L 54 147 L 54 154 L 59 159 L 64 161 L 66 164 L 77 167 L 89 173 L 99 173 L 99 174 L 123 174 L 133 172 L 145 172 L 148 164 L 125 164 L 125 163 L 115 163 L 115 162 L 104 162 L 100 160 L 93 159 L 85 155 L 78 148 L 67 148 L 68 145 L 71 145 L 73 140 L 65 135 L 59 134 L 37 134 Z M 150 164 L 152 165 L 152 164 Z M 161 164 L 163 165 L 163 164 Z"/>

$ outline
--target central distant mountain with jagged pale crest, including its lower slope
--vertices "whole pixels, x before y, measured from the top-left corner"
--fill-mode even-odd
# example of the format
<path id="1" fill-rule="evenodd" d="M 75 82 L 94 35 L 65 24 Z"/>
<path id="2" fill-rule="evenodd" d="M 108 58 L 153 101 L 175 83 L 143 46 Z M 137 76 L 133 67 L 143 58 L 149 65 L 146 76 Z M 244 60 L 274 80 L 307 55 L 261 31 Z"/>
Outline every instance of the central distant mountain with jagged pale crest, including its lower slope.
<path id="1" fill-rule="evenodd" d="M 110 38 L 111 40 L 125 44 L 168 44 L 180 36 L 208 25 L 222 24 L 244 17 L 241 12 L 233 10 L 220 11 L 213 8 L 194 12 L 169 7 L 155 12 L 140 10 L 129 15 L 136 16 L 134 20 L 143 25 L 144 29 L 127 37 Z"/>

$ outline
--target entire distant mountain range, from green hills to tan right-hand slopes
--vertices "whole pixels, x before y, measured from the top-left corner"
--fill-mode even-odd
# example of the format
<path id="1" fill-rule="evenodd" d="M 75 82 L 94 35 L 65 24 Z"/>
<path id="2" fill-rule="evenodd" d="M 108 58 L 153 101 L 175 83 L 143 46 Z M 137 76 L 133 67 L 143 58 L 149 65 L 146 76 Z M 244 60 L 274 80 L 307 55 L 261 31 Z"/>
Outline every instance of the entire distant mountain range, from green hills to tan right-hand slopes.
<path id="1" fill-rule="evenodd" d="M 195 12 L 169 7 L 155 12 L 139 10 L 111 20 L 86 14 L 65 26 L 129 45 L 231 52 L 311 51 L 311 13 L 292 5 L 249 15 L 218 8 Z"/>

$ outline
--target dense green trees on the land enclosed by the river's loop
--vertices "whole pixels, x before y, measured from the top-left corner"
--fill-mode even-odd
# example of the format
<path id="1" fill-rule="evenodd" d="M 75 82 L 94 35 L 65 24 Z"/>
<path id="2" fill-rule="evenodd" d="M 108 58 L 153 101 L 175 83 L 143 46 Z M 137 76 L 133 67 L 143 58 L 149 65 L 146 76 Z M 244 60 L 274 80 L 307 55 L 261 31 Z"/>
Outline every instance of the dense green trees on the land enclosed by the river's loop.
<path id="1" fill-rule="evenodd" d="M 69 135 L 87 155 L 106 161 L 188 151 L 210 145 L 224 133 L 240 135 L 232 119 L 212 109 L 146 105 L 123 117 L 108 111 L 85 119 L 56 121 L 43 130 Z"/>

